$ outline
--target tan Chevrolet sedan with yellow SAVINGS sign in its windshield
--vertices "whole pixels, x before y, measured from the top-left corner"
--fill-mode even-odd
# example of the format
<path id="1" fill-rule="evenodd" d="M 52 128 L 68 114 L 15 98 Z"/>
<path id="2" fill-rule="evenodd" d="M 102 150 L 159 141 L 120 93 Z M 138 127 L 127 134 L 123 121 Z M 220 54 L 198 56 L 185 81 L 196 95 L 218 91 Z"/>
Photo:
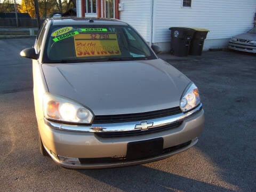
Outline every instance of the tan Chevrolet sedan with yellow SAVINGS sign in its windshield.
<path id="1" fill-rule="evenodd" d="M 204 128 L 196 85 L 125 22 L 46 19 L 20 55 L 33 60 L 41 153 L 61 166 L 158 161 L 194 146 Z"/>

